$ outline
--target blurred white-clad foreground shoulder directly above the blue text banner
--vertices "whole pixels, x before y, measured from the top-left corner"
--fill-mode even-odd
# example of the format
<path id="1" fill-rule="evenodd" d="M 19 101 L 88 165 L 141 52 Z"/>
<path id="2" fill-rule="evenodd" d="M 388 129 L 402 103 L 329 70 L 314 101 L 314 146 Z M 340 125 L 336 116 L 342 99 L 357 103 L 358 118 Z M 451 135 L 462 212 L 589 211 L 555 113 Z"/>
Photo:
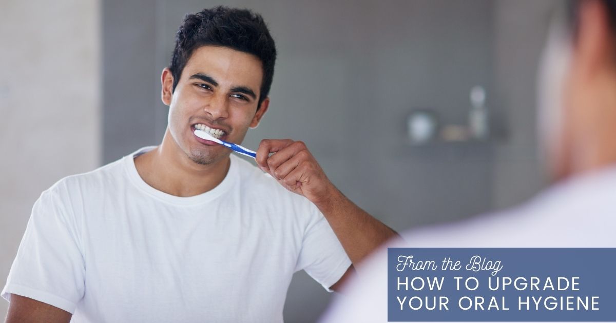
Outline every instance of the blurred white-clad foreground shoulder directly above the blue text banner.
<path id="1" fill-rule="evenodd" d="M 517 207 L 403 233 L 413 247 L 614 246 L 616 169 L 578 176 Z"/>

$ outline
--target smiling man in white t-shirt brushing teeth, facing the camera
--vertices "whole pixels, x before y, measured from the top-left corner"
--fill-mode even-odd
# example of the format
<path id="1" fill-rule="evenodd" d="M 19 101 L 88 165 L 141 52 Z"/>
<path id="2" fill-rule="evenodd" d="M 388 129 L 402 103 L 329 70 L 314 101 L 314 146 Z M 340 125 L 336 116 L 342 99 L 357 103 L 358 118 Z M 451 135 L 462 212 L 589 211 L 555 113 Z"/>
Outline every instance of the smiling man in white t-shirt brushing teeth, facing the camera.
<path id="1" fill-rule="evenodd" d="M 41 195 L 2 291 L 7 322 L 282 322 L 295 271 L 338 290 L 394 236 L 303 143 L 264 140 L 259 170 L 193 133 L 241 143 L 275 56 L 259 15 L 187 15 L 161 76 L 162 143 Z"/>

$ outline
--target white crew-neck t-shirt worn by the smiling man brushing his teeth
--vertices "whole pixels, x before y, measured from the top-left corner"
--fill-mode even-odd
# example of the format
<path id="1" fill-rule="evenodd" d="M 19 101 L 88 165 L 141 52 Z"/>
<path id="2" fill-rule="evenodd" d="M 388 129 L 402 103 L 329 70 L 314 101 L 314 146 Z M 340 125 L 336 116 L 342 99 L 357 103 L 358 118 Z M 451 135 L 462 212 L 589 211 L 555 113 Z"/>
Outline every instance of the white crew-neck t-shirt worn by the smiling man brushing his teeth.
<path id="1" fill-rule="evenodd" d="M 137 173 L 150 149 L 44 191 L 2 297 L 71 322 L 282 322 L 293 273 L 328 289 L 351 265 L 314 204 L 249 162 L 231 156 L 220 185 L 177 197 Z"/>

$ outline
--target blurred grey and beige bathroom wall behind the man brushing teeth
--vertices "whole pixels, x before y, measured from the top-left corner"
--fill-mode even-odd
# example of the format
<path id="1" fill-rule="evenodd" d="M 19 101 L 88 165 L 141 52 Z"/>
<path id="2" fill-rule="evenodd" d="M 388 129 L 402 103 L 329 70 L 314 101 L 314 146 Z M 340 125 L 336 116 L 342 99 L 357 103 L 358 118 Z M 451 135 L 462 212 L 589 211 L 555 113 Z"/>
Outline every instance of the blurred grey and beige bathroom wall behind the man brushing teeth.
<path id="1" fill-rule="evenodd" d="M 0 283 L 41 191 L 160 142 L 177 26 L 219 4 L 262 14 L 279 52 L 270 109 L 246 147 L 306 142 L 338 188 L 399 231 L 525 201 L 546 185 L 535 76 L 556 2 L 2 1 Z M 476 86 L 482 138 L 467 132 Z M 420 143 L 408 122 L 418 111 L 434 126 Z M 314 322 L 330 297 L 297 273 L 285 321 Z"/>

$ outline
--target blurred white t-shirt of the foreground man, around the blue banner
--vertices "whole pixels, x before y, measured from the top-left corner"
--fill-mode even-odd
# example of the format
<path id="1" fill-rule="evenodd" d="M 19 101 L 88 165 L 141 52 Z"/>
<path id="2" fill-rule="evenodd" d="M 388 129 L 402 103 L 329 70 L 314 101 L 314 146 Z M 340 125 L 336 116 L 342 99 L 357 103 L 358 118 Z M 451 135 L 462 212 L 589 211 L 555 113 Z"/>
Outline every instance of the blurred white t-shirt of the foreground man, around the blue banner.
<path id="1" fill-rule="evenodd" d="M 521 207 L 403 233 L 389 247 L 616 247 L 616 167 L 582 175 Z M 387 322 L 387 249 L 361 265 L 322 323 Z"/>

